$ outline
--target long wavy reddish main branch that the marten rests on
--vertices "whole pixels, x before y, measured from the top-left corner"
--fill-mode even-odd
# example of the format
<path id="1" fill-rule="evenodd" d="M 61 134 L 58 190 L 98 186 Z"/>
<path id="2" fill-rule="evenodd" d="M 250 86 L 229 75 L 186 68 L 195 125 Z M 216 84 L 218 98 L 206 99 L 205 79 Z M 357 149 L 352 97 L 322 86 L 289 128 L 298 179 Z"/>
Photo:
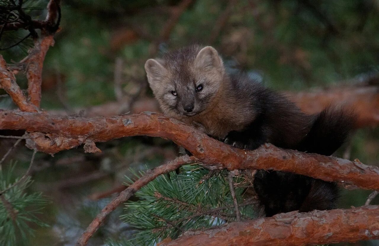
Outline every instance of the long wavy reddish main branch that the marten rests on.
<path id="1" fill-rule="evenodd" d="M 254 151 L 232 148 L 208 137 L 182 121 L 146 112 L 115 117 L 61 117 L 27 112 L 0 112 L 0 129 L 25 129 L 47 132 L 50 139 L 38 133 L 27 143 L 32 149 L 56 153 L 74 148 L 86 141 L 106 142 L 120 137 L 148 135 L 171 139 L 188 149 L 213 169 L 282 170 L 325 181 L 339 181 L 363 189 L 379 190 L 379 168 L 318 154 L 280 149 L 267 144 Z M 64 136 L 64 137 L 61 137 Z"/>

